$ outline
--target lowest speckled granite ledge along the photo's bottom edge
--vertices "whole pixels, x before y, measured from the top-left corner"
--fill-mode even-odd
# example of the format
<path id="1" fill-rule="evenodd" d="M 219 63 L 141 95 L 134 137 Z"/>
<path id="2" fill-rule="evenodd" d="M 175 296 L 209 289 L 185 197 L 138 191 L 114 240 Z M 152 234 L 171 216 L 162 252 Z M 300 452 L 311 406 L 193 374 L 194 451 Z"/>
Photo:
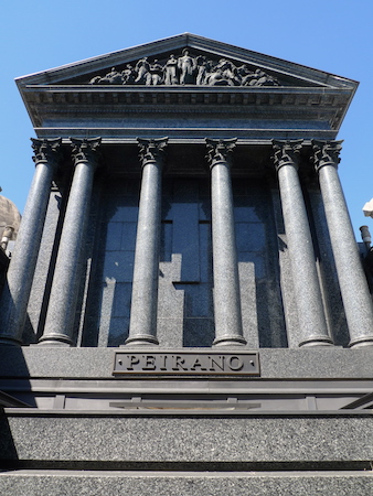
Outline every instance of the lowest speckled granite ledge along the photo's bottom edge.
<path id="1" fill-rule="evenodd" d="M 373 472 L 288 473 L 154 473 L 15 471 L 0 474 L 0 490 L 9 496 L 28 494 L 157 494 L 169 496 L 296 495 L 365 496 L 373 492 Z"/>

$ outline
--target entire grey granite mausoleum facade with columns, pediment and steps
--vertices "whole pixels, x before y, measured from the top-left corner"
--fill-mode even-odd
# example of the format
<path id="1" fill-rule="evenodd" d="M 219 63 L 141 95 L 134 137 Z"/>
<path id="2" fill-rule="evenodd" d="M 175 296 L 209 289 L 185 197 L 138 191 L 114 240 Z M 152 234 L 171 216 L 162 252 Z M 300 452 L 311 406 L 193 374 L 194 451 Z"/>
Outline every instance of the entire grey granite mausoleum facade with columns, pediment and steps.
<path id="1" fill-rule="evenodd" d="M 373 309 L 337 140 L 358 83 L 185 33 L 17 84 L 35 173 L 0 487 L 369 494 Z"/>

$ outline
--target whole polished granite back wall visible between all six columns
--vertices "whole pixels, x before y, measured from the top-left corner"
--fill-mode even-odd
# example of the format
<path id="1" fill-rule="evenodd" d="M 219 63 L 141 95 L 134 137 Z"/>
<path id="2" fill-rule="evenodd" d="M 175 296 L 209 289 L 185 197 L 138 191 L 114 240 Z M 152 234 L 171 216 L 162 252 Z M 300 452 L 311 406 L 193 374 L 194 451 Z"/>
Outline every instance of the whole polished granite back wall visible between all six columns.
<path id="1" fill-rule="evenodd" d="M 276 184 L 234 177 L 234 217 L 244 337 L 251 348 L 297 347 L 298 316 Z M 96 180 L 75 319 L 78 346 L 119 346 L 128 337 L 140 180 Z M 63 188 L 61 188 L 63 192 Z M 64 198 L 52 191 L 24 332 L 41 335 Z M 305 191 L 328 324 L 348 335 L 320 194 Z M 159 266 L 161 346 L 211 346 L 214 339 L 211 192 L 201 177 L 164 176 Z"/>

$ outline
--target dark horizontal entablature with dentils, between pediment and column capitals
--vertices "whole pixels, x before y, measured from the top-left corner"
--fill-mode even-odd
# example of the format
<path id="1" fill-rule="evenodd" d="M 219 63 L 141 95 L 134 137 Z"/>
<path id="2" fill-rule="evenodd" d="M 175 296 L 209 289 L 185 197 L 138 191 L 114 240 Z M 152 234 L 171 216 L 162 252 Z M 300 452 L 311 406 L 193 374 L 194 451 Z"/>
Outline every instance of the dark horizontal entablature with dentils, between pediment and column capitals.
<path id="1" fill-rule="evenodd" d="M 326 134 L 318 138 L 333 139 L 350 94 L 300 87 L 28 86 L 24 98 L 35 128 L 67 127 L 70 133 L 83 127 L 95 128 L 95 134 L 131 137 L 138 128 L 154 136 L 159 129 L 161 134 L 186 138 L 190 132 L 195 138 L 209 129 L 215 138 L 216 129 L 216 138 L 239 130 L 249 139 L 265 138 L 267 130 L 268 139 L 283 139 L 284 130 L 301 129 L 305 138 L 310 131 L 312 138 L 313 130 L 322 129 Z"/>

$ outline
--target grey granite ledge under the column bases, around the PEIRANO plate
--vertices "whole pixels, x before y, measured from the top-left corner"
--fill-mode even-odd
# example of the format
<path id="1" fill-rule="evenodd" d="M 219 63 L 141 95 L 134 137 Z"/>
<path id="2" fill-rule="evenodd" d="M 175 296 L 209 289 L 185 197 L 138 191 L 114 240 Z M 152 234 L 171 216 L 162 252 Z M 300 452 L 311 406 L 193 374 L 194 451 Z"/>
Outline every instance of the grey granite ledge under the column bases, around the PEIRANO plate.
<path id="1" fill-rule="evenodd" d="M 0 346 L 0 376 L 108 379 L 113 378 L 114 354 L 118 349 Z M 198 353 L 199 348 L 192 349 Z M 153 349 L 141 348 L 141 352 L 152 353 Z M 262 379 L 372 379 L 373 377 L 373 346 L 360 349 L 259 348 L 258 352 Z"/>

